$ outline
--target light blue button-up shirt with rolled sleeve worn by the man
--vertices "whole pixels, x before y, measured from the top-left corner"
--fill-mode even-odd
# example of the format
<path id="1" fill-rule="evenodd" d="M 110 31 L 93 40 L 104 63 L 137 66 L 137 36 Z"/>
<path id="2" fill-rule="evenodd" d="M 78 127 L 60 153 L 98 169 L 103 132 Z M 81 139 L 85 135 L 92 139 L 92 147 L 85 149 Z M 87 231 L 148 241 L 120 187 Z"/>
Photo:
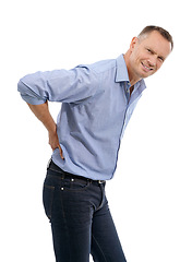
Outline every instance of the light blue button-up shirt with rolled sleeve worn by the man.
<path id="1" fill-rule="evenodd" d="M 129 96 L 123 55 L 72 70 L 36 72 L 17 86 L 29 104 L 62 103 L 57 129 L 64 160 L 58 148 L 52 153 L 61 169 L 94 180 L 112 178 L 122 134 L 146 87 L 141 80 Z"/>

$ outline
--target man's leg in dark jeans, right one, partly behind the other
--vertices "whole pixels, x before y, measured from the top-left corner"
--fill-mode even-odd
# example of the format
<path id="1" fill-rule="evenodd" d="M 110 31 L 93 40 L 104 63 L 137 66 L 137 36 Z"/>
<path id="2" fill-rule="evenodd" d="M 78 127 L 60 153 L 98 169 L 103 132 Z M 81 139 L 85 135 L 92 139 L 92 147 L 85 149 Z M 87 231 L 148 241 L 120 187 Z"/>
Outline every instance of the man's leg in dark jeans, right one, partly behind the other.
<path id="1" fill-rule="evenodd" d="M 108 207 L 95 212 L 92 225 L 92 255 L 95 262 L 125 262 L 125 257 Z"/>

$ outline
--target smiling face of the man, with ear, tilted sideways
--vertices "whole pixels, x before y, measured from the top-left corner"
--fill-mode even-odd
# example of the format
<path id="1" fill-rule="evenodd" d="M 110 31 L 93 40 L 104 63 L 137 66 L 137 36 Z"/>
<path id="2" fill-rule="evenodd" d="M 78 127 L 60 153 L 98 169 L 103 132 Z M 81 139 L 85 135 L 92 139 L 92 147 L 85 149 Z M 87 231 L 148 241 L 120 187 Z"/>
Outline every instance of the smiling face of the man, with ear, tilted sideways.
<path id="1" fill-rule="evenodd" d="M 154 31 L 141 39 L 132 39 L 130 56 L 130 73 L 132 78 L 145 79 L 161 67 L 171 52 L 171 44 L 158 32 Z"/>

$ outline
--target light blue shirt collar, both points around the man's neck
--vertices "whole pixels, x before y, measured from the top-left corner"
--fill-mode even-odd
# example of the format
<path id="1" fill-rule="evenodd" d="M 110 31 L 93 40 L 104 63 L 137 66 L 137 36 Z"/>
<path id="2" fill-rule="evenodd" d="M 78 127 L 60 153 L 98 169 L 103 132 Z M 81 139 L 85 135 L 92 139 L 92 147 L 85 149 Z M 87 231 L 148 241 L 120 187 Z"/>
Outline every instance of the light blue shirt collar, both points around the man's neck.
<path id="1" fill-rule="evenodd" d="M 116 61 L 117 61 L 116 82 L 117 83 L 124 81 L 130 82 L 123 55 L 119 56 Z M 140 86 L 142 91 L 146 88 L 145 81 L 143 79 L 140 80 L 134 86 L 135 90 Z"/>

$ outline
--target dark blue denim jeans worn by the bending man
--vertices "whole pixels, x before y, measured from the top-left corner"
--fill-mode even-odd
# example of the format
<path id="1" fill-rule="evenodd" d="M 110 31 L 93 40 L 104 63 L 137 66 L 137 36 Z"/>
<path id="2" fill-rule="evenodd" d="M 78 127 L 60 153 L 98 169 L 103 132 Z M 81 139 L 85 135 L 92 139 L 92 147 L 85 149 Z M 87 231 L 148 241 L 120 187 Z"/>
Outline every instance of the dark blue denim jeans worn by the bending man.
<path id="1" fill-rule="evenodd" d="M 125 262 L 105 195 L 105 182 L 62 171 L 53 163 L 44 183 L 57 262 Z"/>

